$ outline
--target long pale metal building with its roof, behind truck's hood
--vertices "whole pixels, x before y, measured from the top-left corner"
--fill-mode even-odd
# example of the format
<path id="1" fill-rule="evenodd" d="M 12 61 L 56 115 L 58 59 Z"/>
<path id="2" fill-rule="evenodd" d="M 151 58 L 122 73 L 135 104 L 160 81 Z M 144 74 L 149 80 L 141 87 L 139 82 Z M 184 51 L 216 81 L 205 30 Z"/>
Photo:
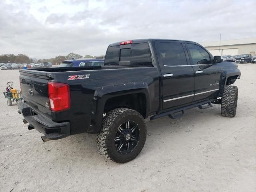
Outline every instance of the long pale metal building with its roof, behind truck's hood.
<path id="1" fill-rule="evenodd" d="M 240 55 L 240 54 L 256 54 L 256 38 L 221 40 L 200 43 L 213 56 L 215 55 Z"/>

